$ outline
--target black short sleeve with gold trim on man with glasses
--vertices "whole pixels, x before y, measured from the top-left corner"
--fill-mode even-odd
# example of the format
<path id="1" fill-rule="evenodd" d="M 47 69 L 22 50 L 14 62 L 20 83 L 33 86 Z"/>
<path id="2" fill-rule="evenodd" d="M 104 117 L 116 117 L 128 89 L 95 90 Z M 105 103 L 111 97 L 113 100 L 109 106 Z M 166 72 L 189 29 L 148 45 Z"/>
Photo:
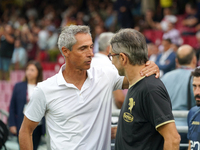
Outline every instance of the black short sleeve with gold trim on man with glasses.
<path id="1" fill-rule="evenodd" d="M 174 122 L 170 98 L 165 90 L 152 90 L 143 100 L 146 118 L 157 129 L 158 127 Z"/>

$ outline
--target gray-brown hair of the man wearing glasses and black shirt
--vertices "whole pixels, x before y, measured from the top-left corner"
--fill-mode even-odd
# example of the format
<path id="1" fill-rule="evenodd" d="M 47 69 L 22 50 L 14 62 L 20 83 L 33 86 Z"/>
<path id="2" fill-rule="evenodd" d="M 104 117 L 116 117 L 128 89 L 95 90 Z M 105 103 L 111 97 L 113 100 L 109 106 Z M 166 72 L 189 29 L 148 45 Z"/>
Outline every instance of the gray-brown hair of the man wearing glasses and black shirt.
<path id="1" fill-rule="evenodd" d="M 142 65 L 148 61 L 145 37 L 134 29 L 121 29 L 111 39 L 112 51 L 124 53 L 132 65 Z"/>

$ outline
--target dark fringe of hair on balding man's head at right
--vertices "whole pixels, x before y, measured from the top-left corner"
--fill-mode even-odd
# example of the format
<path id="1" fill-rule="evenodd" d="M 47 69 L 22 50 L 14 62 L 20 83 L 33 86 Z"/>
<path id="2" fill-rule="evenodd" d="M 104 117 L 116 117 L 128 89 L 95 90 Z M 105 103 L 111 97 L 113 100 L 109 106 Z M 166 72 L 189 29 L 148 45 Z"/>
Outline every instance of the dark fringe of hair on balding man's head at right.
<path id="1" fill-rule="evenodd" d="M 180 65 L 188 65 L 191 63 L 194 55 L 195 55 L 195 52 L 193 49 L 191 49 L 191 52 L 189 54 L 185 55 L 184 57 L 180 58 L 178 54 L 176 57 L 177 57 Z"/>

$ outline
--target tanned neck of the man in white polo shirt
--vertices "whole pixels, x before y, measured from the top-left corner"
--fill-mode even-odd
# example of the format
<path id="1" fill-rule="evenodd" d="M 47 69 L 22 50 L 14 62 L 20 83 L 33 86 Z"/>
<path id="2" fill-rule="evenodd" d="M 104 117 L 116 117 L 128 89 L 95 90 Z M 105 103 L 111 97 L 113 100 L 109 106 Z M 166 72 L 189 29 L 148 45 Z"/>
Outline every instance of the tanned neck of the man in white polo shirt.
<path id="1" fill-rule="evenodd" d="M 62 73 L 65 81 L 74 84 L 79 90 L 87 78 L 87 70 L 73 69 L 67 65 Z"/>

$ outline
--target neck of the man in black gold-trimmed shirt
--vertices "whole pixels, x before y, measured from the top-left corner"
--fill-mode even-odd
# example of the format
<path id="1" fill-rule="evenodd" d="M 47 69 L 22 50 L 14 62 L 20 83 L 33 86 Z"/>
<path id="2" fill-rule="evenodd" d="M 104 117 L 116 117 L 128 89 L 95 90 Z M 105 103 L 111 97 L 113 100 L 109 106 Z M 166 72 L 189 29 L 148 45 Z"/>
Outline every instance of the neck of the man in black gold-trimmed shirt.
<path id="1" fill-rule="evenodd" d="M 139 79 L 141 79 L 140 71 L 145 67 L 144 65 L 138 66 L 132 66 L 130 65 L 125 69 L 125 76 L 127 77 L 129 81 L 129 85 L 135 84 Z"/>

